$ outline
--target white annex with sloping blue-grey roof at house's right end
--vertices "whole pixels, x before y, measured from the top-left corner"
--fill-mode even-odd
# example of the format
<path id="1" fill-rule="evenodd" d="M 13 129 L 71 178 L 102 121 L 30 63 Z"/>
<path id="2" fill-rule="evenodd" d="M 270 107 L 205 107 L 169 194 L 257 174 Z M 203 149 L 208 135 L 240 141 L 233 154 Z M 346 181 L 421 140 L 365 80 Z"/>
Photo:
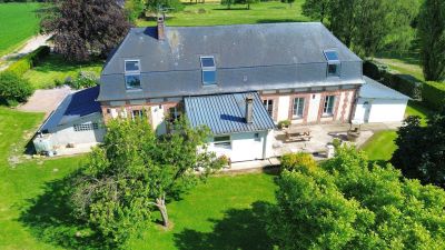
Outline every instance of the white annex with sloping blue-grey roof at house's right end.
<path id="1" fill-rule="evenodd" d="M 353 120 L 360 123 L 403 121 L 411 98 L 368 77 L 364 80 Z"/>

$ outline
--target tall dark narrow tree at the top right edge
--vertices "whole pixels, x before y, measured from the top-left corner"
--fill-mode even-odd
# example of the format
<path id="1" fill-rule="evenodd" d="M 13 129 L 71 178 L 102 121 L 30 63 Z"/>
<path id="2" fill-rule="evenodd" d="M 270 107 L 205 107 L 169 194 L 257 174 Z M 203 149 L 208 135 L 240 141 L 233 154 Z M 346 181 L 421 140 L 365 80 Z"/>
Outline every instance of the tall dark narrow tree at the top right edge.
<path id="1" fill-rule="evenodd" d="M 425 0 L 417 27 L 425 79 L 445 80 L 445 1 Z"/>

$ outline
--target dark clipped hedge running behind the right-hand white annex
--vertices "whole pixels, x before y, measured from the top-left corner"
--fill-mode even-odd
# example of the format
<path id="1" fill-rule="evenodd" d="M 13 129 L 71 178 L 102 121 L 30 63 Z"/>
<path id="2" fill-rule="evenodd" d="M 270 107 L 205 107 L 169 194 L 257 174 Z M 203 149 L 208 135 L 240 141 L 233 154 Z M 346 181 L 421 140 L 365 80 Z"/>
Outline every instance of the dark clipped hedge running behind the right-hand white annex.
<path id="1" fill-rule="evenodd" d="M 363 66 L 364 74 L 380 81 L 383 84 L 397 90 L 413 99 L 422 98 L 423 81 L 409 74 L 393 73 L 386 66 L 365 61 Z"/>

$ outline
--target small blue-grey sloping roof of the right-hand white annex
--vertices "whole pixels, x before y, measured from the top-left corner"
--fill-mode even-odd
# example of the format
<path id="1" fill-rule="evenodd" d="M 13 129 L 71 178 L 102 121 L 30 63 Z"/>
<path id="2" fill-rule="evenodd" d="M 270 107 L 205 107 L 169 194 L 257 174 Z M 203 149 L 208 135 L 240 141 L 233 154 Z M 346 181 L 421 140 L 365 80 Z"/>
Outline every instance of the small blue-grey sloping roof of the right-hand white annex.
<path id="1" fill-rule="evenodd" d="M 364 77 L 365 84 L 362 86 L 358 97 L 369 99 L 390 99 L 390 100 L 409 100 L 411 98 L 388 88 L 380 82 L 373 80 L 368 77 Z"/>

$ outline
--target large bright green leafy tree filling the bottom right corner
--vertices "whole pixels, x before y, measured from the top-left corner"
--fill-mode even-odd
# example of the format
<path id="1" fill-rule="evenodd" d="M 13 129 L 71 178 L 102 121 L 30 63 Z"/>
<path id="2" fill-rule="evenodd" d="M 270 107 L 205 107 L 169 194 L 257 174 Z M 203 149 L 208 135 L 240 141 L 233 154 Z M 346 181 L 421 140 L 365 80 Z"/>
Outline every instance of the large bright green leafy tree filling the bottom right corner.
<path id="1" fill-rule="evenodd" d="M 404 179 L 354 148 L 277 179 L 266 217 L 277 249 L 442 249 L 445 191 Z"/>

